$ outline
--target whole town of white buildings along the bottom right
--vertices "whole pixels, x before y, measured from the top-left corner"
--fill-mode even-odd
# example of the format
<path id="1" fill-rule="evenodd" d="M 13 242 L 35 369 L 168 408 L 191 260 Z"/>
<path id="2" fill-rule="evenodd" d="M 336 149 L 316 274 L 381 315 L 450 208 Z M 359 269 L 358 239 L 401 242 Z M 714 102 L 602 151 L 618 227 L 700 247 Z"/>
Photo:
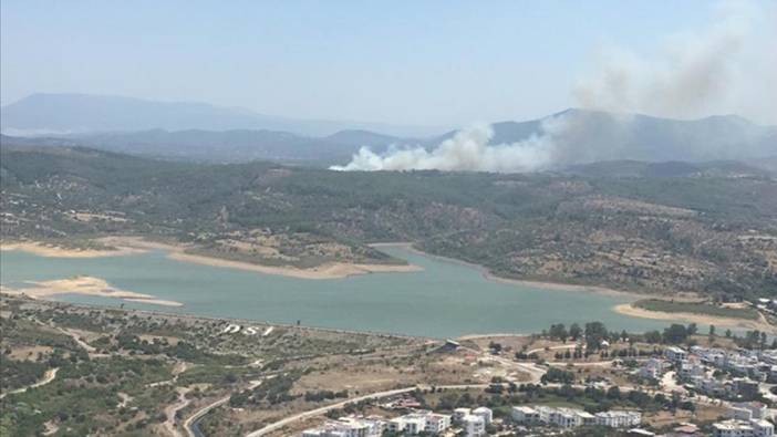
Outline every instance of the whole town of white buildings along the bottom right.
<path id="1" fill-rule="evenodd" d="M 622 367 L 624 371 L 628 367 Z M 767 406 L 775 399 L 769 389 L 777 381 L 777 351 L 727 350 L 722 347 L 666 346 L 656 356 L 641 360 L 628 371 L 633 378 L 653 384 L 678 402 L 721 407 L 717 422 L 701 428 L 692 422 L 677 424 L 671 431 L 653 433 L 643 425 L 642 412 L 613 408 L 588 412 L 567 406 L 521 404 L 509 414 L 496 415 L 491 408 L 456 407 L 445 410 L 424 409 L 413 398 L 401 397 L 386 404 L 397 416 L 373 414 L 343 415 L 320 426 L 305 429 L 302 437 L 372 437 L 372 436 L 466 436 L 486 435 L 594 435 L 586 429 L 610 429 L 618 436 L 715 436 L 770 437 L 774 435 L 774 410 Z M 599 385 L 607 386 L 605 382 Z M 498 384 L 495 384 L 498 386 Z M 556 384 L 558 385 L 558 384 Z M 553 386 L 549 384 L 548 386 Z M 590 387 L 593 387 L 591 385 Z M 610 386 L 612 389 L 612 386 Z"/>

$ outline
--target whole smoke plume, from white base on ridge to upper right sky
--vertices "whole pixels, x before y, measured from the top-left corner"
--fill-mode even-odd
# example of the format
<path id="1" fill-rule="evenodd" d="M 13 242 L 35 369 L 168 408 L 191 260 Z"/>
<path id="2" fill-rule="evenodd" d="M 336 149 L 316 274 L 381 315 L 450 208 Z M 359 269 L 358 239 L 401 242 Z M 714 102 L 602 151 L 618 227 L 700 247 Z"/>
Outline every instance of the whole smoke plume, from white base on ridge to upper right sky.
<path id="1" fill-rule="evenodd" d="M 682 118 L 721 113 L 722 107 L 752 115 L 748 108 L 757 107 L 771 114 L 767 118 L 777 119 L 776 11 L 744 1 L 721 3 L 708 29 L 670 38 L 655 56 L 610 50 L 593 73 L 578 82 L 572 95 L 583 108 L 612 115 L 571 112 L 550 117 L 540 133 L 514 144 L 489 145 L 494 132 L 480 125 L 433 149 L 394 147 L 376 154 L 362 147 L 348 165 L 331 168 L 533 171 L 630 156 L 634 150 L 623 149 L 633 135 L 629 113 Z M 758 27 L 763 17 L 766 25 Z M 580 144 L 580 138 L 602 132 L 609 135 L 605 141 Z"/>

